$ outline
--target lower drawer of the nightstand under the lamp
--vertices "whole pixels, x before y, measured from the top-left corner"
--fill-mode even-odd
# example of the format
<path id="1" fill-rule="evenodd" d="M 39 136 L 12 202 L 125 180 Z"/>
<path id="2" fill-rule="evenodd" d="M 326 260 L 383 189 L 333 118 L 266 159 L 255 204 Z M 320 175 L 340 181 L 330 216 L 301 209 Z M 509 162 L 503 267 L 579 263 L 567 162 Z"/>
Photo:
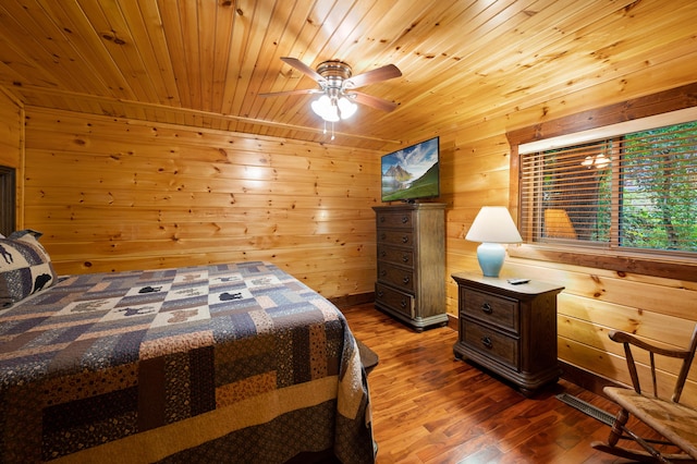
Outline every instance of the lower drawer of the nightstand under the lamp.
<path id="1" fill-rule="evenodd" d="M 488 327 L 462 318 L 460 338 L 466 346 L 485 356 L 518 370 L 518 340 Z"/>

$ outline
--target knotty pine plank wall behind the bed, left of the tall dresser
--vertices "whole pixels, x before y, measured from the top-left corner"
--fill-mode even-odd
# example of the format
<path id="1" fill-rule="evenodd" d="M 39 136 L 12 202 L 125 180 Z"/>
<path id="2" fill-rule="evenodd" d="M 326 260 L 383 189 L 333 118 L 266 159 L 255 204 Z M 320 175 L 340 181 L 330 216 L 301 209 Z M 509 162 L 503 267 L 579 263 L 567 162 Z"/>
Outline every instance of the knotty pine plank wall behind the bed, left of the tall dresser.
<path id="1" fill-rule="evenodd" d="M 267 260 L 327 297 L 375 280 L 375 151 L 26 111 L 25 223 L 59 273 Z"/>

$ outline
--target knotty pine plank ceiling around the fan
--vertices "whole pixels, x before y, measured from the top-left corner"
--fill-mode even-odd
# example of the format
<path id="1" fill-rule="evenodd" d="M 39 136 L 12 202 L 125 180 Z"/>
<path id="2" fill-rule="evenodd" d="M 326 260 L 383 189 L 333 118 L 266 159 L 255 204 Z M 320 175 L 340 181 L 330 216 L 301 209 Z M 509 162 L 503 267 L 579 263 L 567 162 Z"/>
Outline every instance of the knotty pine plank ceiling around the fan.
<path id="1" fill-rule="evenodd" d="M 2 0 L 0 86 L 26 106 L 329 142 L 280 60 L 395 64 L 335 125 L 365 148 L 530 108 L 695 48 L 692 0 Z M 343 137 L 343 138 L 341 138 Z"/>

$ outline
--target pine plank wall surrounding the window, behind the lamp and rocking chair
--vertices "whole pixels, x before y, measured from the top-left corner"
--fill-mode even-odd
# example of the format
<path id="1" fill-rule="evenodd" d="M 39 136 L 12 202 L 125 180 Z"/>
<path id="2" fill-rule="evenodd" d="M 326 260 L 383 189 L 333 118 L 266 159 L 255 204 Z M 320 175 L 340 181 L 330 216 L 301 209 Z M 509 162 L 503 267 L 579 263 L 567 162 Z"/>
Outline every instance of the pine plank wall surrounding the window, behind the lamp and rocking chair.
<path id="1" fill-rule="evenodd" d="M 692 70 L 697 51 L 662 66 L 611 78 L 583 93 L 545 101 L 502 118 L 486 119 L 441 134 L 447 147 L 447 274 L 480 272 L 477 243 L 464 236 L 481 206 L 508 205 L 510 146 L 505 133 L 539 122 L 574 114 L 613 102 L 651 95 L 695 81 Z M 441 198 L 442 199 L 442 198 Z M 697 282 L 637 273 L 509 258 L 502 277 L 526 277 L 565 286 L 559 296 L 559 357 L 598 376 L 631 383 L 621 345 L 609 340 L 611 330 L 625 330 L 649 342 L 685 347 L 697 323 Z M 457 289 L 448 281 L 448 313 L 456 315 Z M 638 357 L 648 382 L 648 357 Z M 660 359 L 672 389 L 678 366 Z M 697 405 L 697 368 L 693 368 L 682 401 Z M 650 388 L 650 383 L 646 383 Z"/>

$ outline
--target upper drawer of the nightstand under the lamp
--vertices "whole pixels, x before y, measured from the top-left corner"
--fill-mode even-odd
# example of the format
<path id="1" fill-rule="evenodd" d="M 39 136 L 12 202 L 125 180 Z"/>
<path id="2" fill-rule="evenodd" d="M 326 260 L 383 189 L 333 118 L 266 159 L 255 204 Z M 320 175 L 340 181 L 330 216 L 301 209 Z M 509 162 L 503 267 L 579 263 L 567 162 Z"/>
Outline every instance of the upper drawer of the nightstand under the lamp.
<path id="1" fill-rule="evenodd" d="M 519 332 L 518 301 L 460 288 L 462 315 Z"/>

